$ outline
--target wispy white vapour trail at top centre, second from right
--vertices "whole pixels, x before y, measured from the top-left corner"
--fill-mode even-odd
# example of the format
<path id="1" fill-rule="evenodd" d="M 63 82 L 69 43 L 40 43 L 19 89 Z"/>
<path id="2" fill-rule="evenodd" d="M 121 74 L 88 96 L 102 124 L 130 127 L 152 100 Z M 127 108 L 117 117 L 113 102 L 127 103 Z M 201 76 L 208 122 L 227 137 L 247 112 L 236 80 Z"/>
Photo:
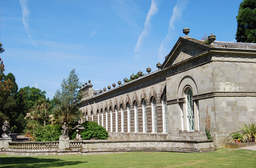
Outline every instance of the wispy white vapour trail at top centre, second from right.
<path id="1" fill-rule="evenodd" d="M 144 30 L 142 31 L 141 35 L 139 36 L 139 39 L 138 39 L 137 44 L 134 49 L 135 52 L 139 51 L 142 41 L 143 41 L 143 38 L 145 38 L 145 36 L 147 36 L 147 34 L 151 28 L 151 18 L 155 14 L 157 14 L 157 11 L 158 11 L 157 3 L 155 2 L 155 0 L 152 0 L 149 12 L 147 13 L 146 21 L 144 23 Z"/>

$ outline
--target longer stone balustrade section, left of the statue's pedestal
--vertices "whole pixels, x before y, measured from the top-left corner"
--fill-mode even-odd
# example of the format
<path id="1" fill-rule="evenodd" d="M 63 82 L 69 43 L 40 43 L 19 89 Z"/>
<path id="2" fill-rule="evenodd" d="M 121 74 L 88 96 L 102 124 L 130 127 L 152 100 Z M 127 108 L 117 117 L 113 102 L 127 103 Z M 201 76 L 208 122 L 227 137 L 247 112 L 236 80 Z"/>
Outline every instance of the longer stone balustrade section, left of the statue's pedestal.
<path id="1" fill-rule="evenodd" d="M 9 148 L 12 150 L 58 150 L 58 141 L 51 142 L 9 142 Z"/>

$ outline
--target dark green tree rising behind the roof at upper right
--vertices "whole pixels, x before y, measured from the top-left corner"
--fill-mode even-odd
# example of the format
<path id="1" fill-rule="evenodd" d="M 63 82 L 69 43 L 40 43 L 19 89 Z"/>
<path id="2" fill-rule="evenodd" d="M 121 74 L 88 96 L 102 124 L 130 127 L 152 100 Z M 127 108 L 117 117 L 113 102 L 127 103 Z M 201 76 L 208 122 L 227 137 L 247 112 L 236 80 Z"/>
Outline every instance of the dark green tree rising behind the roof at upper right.
<path id="1" fill-rule="evenodd" d="M 236 19 L 236 41 L 256 43 L 256 0 L 241 2 Z"/>

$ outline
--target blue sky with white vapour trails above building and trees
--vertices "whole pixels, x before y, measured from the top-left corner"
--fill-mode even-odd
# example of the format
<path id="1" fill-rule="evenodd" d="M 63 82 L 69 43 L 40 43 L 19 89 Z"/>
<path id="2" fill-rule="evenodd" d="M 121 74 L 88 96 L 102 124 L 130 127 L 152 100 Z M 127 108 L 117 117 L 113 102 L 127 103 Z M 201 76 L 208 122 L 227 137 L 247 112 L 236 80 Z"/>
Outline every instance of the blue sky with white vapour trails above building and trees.
<path id="1" fill-rule="evenodd" d="M 157 70 L 182 29 L 235 42 L 242 0 L 1 0 L 5 74 L 53 98 L 75 68 L 94 90 Z"/>

